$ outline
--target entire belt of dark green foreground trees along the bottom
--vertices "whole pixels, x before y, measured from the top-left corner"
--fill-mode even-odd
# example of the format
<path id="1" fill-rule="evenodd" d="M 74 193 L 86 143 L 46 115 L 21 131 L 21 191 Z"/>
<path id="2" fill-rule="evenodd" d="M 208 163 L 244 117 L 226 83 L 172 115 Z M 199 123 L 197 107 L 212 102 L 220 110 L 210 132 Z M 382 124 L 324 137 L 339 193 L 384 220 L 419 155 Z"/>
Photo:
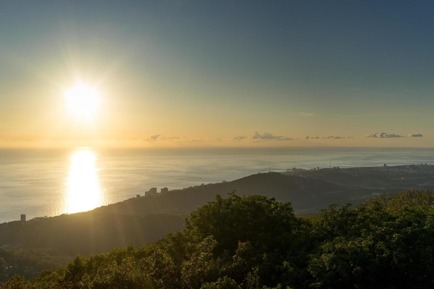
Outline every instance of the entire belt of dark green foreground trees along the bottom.
<path id="1" fill-rule="evenodd" d="M 3 288 L 432 288 L 434 195 L 406 191 L 314 218 L 234 193 L 155 244 L 78 256 Z"/>

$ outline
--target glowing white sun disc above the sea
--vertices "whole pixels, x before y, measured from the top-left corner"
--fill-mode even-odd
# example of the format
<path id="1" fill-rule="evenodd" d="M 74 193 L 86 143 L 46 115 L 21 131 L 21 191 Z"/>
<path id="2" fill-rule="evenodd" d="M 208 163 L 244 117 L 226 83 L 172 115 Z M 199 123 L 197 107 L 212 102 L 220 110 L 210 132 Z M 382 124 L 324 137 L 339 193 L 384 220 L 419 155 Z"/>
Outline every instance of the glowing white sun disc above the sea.
<path id="1" fill-rule="evenodd" d="M 64 95 L 69 112 L 79 120 L 92 120 L 99 110 L 99 93 L 95 88 L 77 84 Z"/>

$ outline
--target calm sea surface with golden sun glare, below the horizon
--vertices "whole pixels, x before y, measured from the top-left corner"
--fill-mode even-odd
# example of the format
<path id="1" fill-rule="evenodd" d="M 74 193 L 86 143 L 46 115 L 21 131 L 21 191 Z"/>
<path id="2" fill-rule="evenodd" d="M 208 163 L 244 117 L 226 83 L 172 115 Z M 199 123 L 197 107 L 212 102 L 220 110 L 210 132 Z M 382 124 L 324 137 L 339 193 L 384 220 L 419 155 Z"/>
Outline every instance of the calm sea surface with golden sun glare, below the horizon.
<path id="1" fill-rule="evenodd" d="M 0 223 L 87 211 L 143 195 L 230 181 L 261 170 L 434 164 L 420 148 L 0 149 Z"/>

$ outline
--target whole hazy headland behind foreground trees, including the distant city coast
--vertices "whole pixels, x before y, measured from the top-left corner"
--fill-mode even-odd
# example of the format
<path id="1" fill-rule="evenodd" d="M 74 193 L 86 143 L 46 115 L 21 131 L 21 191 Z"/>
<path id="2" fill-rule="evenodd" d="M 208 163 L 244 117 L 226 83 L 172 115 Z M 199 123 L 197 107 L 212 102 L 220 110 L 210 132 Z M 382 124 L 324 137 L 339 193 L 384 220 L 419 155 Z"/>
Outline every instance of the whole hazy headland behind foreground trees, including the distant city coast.
<path id="1" fill-rule="evenodd" d="M 0 224 L 0 244 L 54 247 L 72 255 L 99 253 L 114 246 L 154 242 L 166 232 L 179 229 L 182 216 L 212 201 L 215 195 L 225 198 L 232 191 L 237 195 L 266 195 L 277 201 L 290 201 L 296 214 L 315 215 L 332 203 L 356 205 L 375 195 L 408 188 L 434 189 L 434 166 L 385 164 L 262 172 L 230 182 L 175 190 L 164 188 L 161 192 L 155 188 L 147 194 L 82 213 L 35 218 L 25 224 L 20 221 L 3 223 Z M 72 247 L 65 245 L 69 238 L 76 240 Z"/>

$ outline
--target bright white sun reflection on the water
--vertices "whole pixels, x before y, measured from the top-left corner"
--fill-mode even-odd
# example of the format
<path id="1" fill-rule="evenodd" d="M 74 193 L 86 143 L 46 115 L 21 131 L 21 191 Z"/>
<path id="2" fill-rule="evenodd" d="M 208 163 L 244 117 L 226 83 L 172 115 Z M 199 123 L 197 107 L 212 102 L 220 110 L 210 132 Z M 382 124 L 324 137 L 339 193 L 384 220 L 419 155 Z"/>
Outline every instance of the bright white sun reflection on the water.
<path id="1" fill-rule="evenodd" d="M 81 149 L 71 156 L 65 204 L 69 214 L 89 211 L 102 205 L 102 190 L 95 162 L 95 153 L 89 149 Z"/>

